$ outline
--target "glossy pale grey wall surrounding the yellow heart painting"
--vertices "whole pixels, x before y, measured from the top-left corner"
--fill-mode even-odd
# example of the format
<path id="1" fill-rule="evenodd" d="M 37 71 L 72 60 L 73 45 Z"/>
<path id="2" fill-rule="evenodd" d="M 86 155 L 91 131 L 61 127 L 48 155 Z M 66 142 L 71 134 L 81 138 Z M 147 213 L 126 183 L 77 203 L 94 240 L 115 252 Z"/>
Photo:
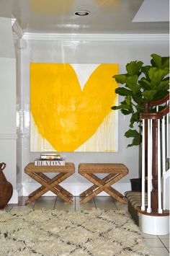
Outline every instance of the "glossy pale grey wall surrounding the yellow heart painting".
<path id="1" fill-rule="evenodd" d="M 24 113 L 22 164 L 23 167 L 33 162 L 40 153 L 30 152 L 30 62 L 45 63 L 119 63 L 120 73 L 125 72 L 125 65 L 129 61 L 139 60 L 150 63 L 151 53 L 161 56 L 169 55 L 168 41 L 164 40 L 127 40 L 127 41 L 97 41 L 97 40 L 27 40 L 27 48 L 22 49 L 22 112 Z M 120 99 L 121 100 L 121 99 Z M 138 177 L 138 147 L 126 148 L 130 140 L 123 135 L 128 130 L 129 118 L 119 112 L 119 151 L 117 153 L 62 153 L 67 162 L 76 166 L 76 175 L 68 178 L 65 187 L 78 194 L 84 190 L 87 181 L 77 174 L 79 163 L 84 162 L 121 162 L 129 168 L 129 175 L 120 180 L 120 186 L 130 178 Z M 34 190 L 36 185 L 22 169 L 22 183 L 24 195 L 28 190 Z M 124 184 L 125 185 L 125 184 Z M 125 188 L 125 187 L 124 187 Z M 127 186 L 125 189 L 129 189 Z M 123 190 L 123 189 L 122 189 Z"/>

